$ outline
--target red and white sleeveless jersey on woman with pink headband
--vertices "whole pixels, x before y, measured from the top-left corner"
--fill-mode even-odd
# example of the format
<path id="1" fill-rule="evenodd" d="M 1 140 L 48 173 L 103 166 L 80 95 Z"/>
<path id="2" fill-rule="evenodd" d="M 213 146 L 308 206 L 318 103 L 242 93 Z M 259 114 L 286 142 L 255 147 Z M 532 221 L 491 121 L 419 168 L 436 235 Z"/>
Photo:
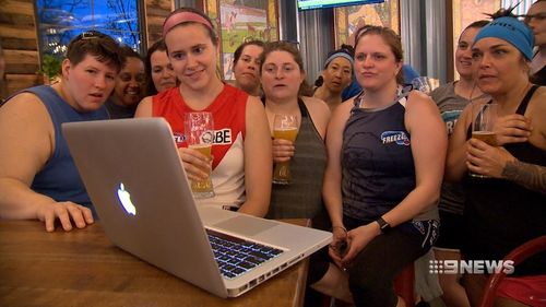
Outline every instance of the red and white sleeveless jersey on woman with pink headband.
<path id="1" fill-rule="evenodd" d="M 201 205 L 240 206 L 245 202 L 245 131 L 248 94 L 229 85 L 202 111 L 210 111 L 214 120 L 214 143 L 212 146 L 213 198 L 197 199 Z M 178 147 L 187 147 L 183 133 L 183 115 L 191 109 L 179 87 L 162 92 L 152 98 L 152 115 L 164 117 L 173 129 Z"/>

